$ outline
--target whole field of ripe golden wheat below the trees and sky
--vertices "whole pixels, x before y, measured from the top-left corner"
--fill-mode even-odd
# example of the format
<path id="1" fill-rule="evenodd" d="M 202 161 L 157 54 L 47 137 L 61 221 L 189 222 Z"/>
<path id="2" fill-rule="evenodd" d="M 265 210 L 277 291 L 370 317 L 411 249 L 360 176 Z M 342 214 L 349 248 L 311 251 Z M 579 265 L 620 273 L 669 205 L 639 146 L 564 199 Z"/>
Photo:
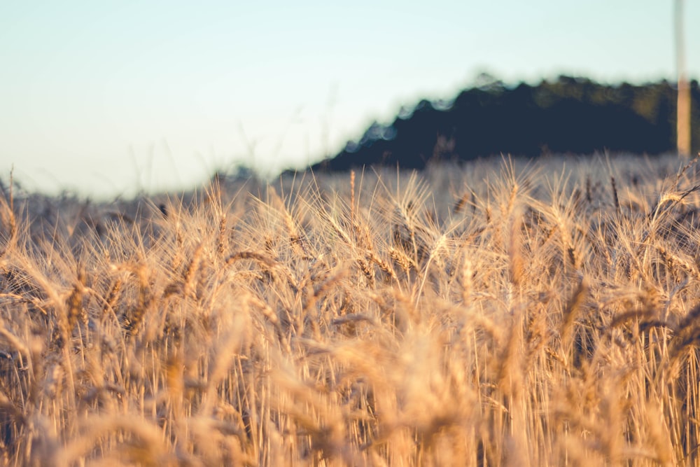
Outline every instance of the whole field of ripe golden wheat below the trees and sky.
<path id="1" fill-rule="evenodd" d="M 0 463 L 691 465 L 675 158 L 0 198 Z"/>

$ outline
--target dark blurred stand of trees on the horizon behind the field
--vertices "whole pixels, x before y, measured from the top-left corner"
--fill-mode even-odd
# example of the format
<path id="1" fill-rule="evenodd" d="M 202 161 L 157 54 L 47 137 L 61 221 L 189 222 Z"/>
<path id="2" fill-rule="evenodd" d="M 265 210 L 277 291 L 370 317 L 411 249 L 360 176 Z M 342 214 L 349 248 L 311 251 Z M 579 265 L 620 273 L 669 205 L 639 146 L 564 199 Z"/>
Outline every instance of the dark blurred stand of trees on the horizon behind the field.
<path id="1" fill-rule="evenodd" d="M 692 148 L 700 145 L 700 88 L 691 83 Z M 372 124 L 344 151 L 313 166 L 346 170 L 363 165 L 422 168 L 428 160 L 470 160 L 493 154 L 675 151 L 675 83 L 603 85 L 559 76 L 538 85 L 495 79 L 451 101 L 421 100 L 391 125 Z"/>

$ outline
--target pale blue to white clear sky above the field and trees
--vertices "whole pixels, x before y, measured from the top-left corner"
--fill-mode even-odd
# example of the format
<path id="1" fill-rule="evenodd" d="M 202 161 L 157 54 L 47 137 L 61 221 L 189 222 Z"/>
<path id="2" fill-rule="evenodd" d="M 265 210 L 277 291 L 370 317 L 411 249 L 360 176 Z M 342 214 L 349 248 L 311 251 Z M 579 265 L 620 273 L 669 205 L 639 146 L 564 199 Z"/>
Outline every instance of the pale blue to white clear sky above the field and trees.
<path id="1" fill-rule="evenodd" d="M 128 196 L 316 162 L 481 71 L 673 79 L 673 0 L 3 2 L 0 61 L 0 177 Z"/>

